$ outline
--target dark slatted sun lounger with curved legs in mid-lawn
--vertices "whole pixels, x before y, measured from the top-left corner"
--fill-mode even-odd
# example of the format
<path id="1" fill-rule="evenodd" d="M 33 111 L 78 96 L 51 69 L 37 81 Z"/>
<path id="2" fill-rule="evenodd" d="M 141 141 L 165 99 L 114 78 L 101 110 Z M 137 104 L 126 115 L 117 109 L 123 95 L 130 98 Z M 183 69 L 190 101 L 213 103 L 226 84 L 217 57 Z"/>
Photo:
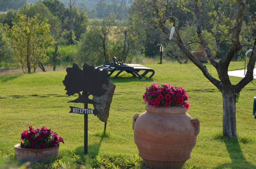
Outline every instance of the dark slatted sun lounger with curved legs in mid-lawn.
<path id="1" fill-rule="evenodd" d="M 112 79 L 115 79 L 116 77 L 118 77 L 118 75 L 120 73 L 122 73 L 123 71 L 126 71 L 127 73 L 130 73 L 133 76 L 138 76 L 141 79 L 143 79 L 143 76 L 148 74 L 148 72 L 152 72 L 152 74 L 148 78 L 152 78 L 155 74 L 155 71 L 153 69 L 139 65 L 139 64 L 125 64 L 122 62 L 118 62 L 116 57 L 113 58 L 113 61 L 114 62 L 106 63 L 106 64 L 104 64 L 102 66 L 98 66 L 96 68 L 99 68 L 100 70 L 105 69 L 105 70 L 109 71 L 110 72 L 109 77 L 114 73 L 114 71 L 119 71 Z M 141 70 L 144 70 L 144 73 L 142 73 L 140 75 L 138 73 Z"/>

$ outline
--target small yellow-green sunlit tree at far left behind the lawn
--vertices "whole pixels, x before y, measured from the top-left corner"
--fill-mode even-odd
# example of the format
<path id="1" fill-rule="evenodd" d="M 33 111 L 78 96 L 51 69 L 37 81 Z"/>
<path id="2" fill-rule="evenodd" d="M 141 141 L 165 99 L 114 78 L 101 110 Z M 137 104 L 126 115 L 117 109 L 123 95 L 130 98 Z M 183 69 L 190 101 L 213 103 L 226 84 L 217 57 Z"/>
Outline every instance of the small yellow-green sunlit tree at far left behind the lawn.
<path id="1" fill-rule="evenodd" d="M 12 29 L 5 24 L 5 40 L 14 53 L 14 59 L 22 66 L 24 73 L 36 71 L 39 62 L 47 59 L 45 49 L 54 44 L 50 35 L 47 19 L 38 20 L 38 14 L 32 18 L 17 15 Z"/>

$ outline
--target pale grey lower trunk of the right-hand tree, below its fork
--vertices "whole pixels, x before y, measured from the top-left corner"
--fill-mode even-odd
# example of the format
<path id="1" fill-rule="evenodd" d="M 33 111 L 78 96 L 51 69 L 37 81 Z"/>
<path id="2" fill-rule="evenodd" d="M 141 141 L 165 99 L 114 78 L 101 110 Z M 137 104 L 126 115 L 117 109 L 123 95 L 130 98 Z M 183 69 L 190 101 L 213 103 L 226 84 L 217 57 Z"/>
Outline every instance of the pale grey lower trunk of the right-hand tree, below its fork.
<path id="1" fill-rule="evenodd" d="M 236 92 L 231 90 L 222 91 L 223 99 L 223 136 L 237 138 L 236 128 Z"/>

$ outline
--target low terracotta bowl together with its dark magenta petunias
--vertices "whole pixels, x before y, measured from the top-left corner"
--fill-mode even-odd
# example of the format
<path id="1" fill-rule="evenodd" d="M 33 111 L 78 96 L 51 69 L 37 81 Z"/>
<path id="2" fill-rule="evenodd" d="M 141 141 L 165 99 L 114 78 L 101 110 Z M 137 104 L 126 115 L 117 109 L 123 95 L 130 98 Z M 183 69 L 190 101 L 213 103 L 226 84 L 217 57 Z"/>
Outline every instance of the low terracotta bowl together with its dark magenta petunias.
<path id="1" fill-rule="evenodd" d="M 16 158 L 21 161 L 50 161 L 50 158 L 58 156 L 59 143 L 64 143 L 56 132 L 42 128 L 33 128 L 29 126 L 29 130 L 21 133 L 20 144 L 14 146 Z"/>

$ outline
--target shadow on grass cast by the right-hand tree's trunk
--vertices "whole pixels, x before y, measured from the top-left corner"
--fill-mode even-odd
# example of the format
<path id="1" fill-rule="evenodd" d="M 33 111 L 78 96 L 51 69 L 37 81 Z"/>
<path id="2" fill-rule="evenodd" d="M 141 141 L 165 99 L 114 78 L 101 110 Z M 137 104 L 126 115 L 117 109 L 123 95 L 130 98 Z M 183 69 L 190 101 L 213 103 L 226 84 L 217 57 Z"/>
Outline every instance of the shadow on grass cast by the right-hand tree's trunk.
<path id="1" fill-rule="evenodd" d="M 255 165 L 252 165 L 244 158 L 238 139 L 223 138 L 222 140 L 226 145 L 231 162 L 219 165 L 216 168 L 256 168 Z M 240 140 L 240 142 L 247 143 L 247 141 L 243 140 Z"/>

